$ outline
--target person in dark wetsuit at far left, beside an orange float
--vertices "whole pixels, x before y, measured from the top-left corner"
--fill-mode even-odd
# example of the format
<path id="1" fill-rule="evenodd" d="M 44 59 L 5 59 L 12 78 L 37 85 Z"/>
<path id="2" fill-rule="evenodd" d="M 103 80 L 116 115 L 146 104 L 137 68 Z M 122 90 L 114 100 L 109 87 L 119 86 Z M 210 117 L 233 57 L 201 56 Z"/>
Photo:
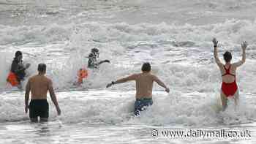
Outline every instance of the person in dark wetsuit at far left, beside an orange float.
<path id="1" fill-rule="evenodd" d="M 21 51 L 16 51 L 15 58 L 12 61 L 11 67 L 11 72 L 13 72 L 16 75 L 18 83 L 24 80 L 24 77 L 26 76 L 25 70 L 30 67 L 30 64 L 26 64 L 24 66 L 22 58 L 23 56 Z"/>

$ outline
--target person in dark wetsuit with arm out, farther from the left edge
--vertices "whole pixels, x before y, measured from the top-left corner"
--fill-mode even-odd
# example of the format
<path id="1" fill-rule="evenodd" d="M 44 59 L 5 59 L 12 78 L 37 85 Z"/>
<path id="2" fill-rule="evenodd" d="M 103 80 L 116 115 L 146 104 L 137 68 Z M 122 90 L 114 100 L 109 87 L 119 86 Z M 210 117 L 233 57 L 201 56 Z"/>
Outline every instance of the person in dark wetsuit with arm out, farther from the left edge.
<path id="1" fill-rule="evenodd" d="M 97 62 L 97 58 L 99 58 L 99 49 L 97 48 L 92 48 L 91 53 L 89 54 L 89 61 L 87 67 L 90 69 L 97 69 L 99 64 L 108 62 L 110 63 L 109 60 L 104 60 L 104 61 L 99 61 Z"/>

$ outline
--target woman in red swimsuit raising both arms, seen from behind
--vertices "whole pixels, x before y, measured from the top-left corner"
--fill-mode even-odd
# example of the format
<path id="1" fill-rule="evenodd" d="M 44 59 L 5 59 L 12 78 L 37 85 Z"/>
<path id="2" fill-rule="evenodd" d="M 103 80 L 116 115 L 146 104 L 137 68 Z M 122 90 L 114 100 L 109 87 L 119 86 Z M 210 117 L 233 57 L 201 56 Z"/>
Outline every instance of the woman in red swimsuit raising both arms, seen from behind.
<path id="1" fill-rule="evenodd" d="M 214 58 L 222 74 L 222 91 L 220 95 L 222 99 L 222 110 L 225 110 L 227 107 L 227 97 L 232 97 L 235 99 L 235 104 L 238 104 L 239 91 L 236 84 L 236 69 L 245 62 L 245 50 L 248 44 L 247 42 L 241 44 L 243 50 L 241 61 L 231 64 L 232 55 L 229 51 L 226 51 L 223 55 L 225 64 L 222 64 L 217 53 L 218 41 L 214 38 L 212 42 L 214 43 Z"/>

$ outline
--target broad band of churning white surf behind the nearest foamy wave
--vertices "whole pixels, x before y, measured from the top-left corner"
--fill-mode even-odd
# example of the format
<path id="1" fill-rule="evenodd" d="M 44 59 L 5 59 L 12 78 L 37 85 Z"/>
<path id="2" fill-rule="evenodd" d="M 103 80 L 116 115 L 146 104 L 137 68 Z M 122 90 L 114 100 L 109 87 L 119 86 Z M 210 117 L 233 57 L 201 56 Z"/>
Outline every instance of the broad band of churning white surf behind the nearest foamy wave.
<path id="1" fill-rule="evenodd" d="M 16 45 L 5 45 L 1 52 L 4 56 L 1 57 L 1 88 L 5 87 L 4 79 L 17 47 L 23 49 L 25 60 L 32 64 L 29 73 L 35 74 L 37 64 L 45 62 L 48 64 L 48 75 L 58 88 L 68 88 L 70 82 L 75 82 L 78 69 L 86 67 L 86 56 L 90 49 L 98 47 L 100 58 L 110 59 L 111 64 L 103 64 L 96 72 L 90 71 L 94 75 L 89 75 L 84 84 L 86 87 L 103 88 L 110 80 L 129 75 L 130 72 L 140 72 L 143 61 L 150 61 L 153 72 L 157 72 L 170 86 L 212 91 L 217 88 L 220 77 L 212 56 L 211 38 L 218 37 L 220 54 L 224 50 L 222 47 L 233 51 L 233 61 L 241 57 L 240 42 L 247 40 L 252 44 L 248 48 L 246 64 L 238 69 L 238 83 L 244 83 L 242 89 L 249 88 L 250 92 L 255 93 L 253 81 L 251 83 L 249 80 L 255 73 L 252 67 L 255 64 L 255 26 L 255 22 L 248 20 L 227 20 L 225 23 L 206 26 L 175 26 L 166 23 L 83 23 L 77 26 L 71 23 L 61 27 L 56 24 L 47 27 L 4 27 L 1 29 L 3 36 L 10 29 L 17 35 L 1 39 L 1 44 L 14 42 Z M 29 39 L 29 43 L 23 42 L 24 39 Z M 48 42 L 56 44 L 47 45 Z M 95 81 L 97 83 L 91 83 Z"/>

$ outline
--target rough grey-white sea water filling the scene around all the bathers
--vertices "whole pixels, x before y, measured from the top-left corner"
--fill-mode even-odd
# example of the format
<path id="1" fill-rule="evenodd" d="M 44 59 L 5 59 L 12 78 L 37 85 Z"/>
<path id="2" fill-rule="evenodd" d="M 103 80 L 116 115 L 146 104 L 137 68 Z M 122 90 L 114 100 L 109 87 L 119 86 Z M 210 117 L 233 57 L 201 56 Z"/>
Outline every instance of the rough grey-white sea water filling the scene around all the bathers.
<path id="1" fill-rule="evenodd" d="M 0 1 L 0 143 L 255 143 L 255 1 Z M 230 99 L 221 111 L 221 75 L 211 40 L 219 40 L 237 69 L 238 107 Z M 109 59 L 81 86 L 78 69 L 86 67 L 91 48 Z M 30 63 L 47 64 L 61 115 L 50 98 L 50 118 L 31 124 L 24 112 L 24 91 L 10 88 L 6 77 L 16 50 Z M 154 84 L 154 105 L 135 117 L 135 83 L 111 88 L 112 80 L 140 72 L 149 61 L 152 73 L 170 87 Z M 25 88 L 27 82 L 23 82 Z M 165 137 L 164 131 L 190 129 L 250 131 L 250 137 Z M 153 130 L 158 135 L 152 134 Z"/>

